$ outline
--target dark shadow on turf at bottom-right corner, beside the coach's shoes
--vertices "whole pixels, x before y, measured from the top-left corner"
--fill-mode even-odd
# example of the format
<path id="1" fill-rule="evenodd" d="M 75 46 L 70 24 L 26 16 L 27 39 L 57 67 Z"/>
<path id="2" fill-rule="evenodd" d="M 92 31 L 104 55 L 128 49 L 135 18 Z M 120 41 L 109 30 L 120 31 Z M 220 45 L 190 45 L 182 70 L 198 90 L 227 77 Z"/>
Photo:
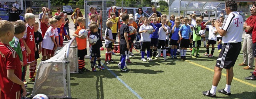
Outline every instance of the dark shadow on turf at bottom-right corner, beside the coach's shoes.
<path id="1" fill-rule="evenodd" d="M 236 93 L 236 94 L 231 94 L 230 96 L 226 97 L 217 97 L 217 98 L 224 98 L 224 99 L 255 99 L 256 97 L 256 91 L 252 92 L 243 92 L 243 93 Z"/>

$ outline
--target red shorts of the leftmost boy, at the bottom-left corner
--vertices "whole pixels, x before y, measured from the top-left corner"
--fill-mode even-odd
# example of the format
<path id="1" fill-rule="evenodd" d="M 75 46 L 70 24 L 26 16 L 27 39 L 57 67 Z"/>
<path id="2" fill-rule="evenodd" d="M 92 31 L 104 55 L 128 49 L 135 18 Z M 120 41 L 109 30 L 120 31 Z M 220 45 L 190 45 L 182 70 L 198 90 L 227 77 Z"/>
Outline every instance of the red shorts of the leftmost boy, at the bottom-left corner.
<path id="1" fill-rule="evenodd" d="M 1 99 L 20 99 L 21 93 L 20 91 L 16 91 L 16 92 L 9 92 L 9 93 L 5 93 L 1 91 L 0 93 L 0 98 Z"/>

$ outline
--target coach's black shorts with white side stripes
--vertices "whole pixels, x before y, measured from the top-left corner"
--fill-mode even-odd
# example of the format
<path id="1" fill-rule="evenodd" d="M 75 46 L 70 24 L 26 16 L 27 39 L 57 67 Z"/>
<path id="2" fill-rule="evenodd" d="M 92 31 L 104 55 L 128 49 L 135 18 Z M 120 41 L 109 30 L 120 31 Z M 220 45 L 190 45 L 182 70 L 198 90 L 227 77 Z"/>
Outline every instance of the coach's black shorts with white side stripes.
<path id="1" fill-rule="evenodd" d="M 216 66 L 225 69 L 230 69 L 233 67 L 236 63 L 236 59 L 241 51 L 241 48 L 241 42 L 223 44 L 220 55 L 216 61 Z"/>

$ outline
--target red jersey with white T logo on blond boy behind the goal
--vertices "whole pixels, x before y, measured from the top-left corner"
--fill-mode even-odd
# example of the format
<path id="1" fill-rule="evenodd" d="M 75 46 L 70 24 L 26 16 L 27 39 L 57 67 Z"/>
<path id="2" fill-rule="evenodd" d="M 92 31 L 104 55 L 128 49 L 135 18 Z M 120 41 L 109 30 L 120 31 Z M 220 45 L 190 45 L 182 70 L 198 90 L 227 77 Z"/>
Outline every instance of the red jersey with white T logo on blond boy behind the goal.
<path id="1" fill-rule="evenodd" d="M 30 27 L 28 24 L 26 24 L 26 30 L 25 34 L 22 37 L 22 39 L 25 40 L 26 44 L 28 45 L 28 48 L 31 51 L 34 51 L 35 48 L 35 37 L 34 37 L 34 27 Z"/>

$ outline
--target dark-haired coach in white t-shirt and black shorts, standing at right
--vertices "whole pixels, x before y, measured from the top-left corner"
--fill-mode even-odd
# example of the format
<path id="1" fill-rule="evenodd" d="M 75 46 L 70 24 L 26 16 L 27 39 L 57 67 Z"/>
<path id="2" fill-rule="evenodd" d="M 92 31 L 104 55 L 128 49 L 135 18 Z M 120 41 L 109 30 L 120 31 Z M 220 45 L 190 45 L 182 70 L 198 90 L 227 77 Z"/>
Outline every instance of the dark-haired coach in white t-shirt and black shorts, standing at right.
<path id="1" fill-rule="evenodd" d="M 216 89 L 221 78 L 221 71 L 226 69 L 226 87 L 218 90 L 219 93 L 231 95 L 230 85 L 234 76 L 233 66 L 242 48 L 242 32 L 243 32 L 243 18 L 237 11 L 237 3 L 234 0 L 227 0 L 225 2 L 225 10 L 228 16 L 225 18 L 222 28 L 219 28 L 220 23 L 216 20 L 214 22 L 216 30 L 222 36 L 223 46 L 220 55 L 214 67 L 214 76 L 212 81 L 212 89 L 203 91 L 203 95 L 208 97 L 216 97 Z"/>

